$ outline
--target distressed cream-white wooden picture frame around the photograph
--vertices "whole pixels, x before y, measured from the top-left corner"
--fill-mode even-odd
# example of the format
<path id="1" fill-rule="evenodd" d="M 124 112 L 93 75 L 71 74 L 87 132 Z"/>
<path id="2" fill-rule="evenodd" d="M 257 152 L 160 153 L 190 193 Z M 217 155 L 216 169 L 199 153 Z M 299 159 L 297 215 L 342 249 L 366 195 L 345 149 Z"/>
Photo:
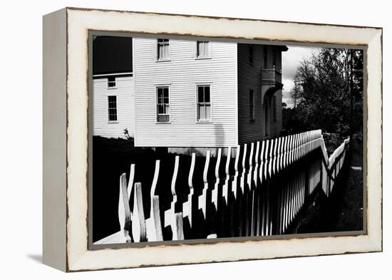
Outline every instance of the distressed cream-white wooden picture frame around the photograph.
<path id="1" fill-rule="evenodd" d="M 91 247 L 88 38 L 91 32 L 359 46 L 366 51 L 366 229 L 361 234 Z M 43 16 L 43 262 L 62 271 L 382 250 L 382 29 L 65 8 Z M 211 54 L 211 53 L 210 53 Z M 213 54 L 212 54 L 213 55 Z M 173 246 L 175 244 L 175 246 Z"/>

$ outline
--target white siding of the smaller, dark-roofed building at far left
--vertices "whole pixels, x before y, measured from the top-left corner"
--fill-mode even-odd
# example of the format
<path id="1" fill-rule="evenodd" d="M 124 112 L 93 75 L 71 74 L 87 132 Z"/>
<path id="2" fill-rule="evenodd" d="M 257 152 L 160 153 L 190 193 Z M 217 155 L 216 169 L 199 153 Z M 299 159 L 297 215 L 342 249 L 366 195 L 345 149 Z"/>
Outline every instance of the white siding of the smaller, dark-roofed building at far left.
<path id="1" fill-rule="evenodd" d="M 128 128 L 134 136 L 134 80 L 132 76 L 116 78 L 116 88 L 108 88 L 108 78 L 93 79 L 93 135 L 106 138 L 124 138 Z M 108 119 L 108 96 L 117 96 L 117 122 Z"/>

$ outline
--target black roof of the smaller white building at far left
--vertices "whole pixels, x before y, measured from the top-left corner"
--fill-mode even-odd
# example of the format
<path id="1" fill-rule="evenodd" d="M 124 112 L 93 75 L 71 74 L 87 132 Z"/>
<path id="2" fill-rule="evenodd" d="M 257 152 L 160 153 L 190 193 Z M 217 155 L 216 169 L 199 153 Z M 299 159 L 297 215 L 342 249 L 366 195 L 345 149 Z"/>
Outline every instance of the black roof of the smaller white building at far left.
<path id="1" fill-rule="evenodd" d="M 93 38 L 93 75 L 132 72 L 132 38 Z"/>

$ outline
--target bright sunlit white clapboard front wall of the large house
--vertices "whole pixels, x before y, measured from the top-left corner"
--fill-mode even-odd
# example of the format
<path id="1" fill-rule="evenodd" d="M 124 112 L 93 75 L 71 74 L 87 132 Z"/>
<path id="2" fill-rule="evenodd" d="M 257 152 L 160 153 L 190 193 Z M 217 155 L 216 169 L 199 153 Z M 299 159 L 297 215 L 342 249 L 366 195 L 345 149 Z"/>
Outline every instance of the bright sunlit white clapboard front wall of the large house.
<path id="1" fill-rule="evenodd" d="M 211 42 L 195 59 L 195 41 L 170 39 L 170 61 L 156 62 L 155 38 L 133 38 L 135 145 L 237 145 L 237 44 Z M 211 85 L 210 123 L 197 123 L 197 84 Z M 156 122 L 157 85 L 170 85 L 170 123 Z"/>

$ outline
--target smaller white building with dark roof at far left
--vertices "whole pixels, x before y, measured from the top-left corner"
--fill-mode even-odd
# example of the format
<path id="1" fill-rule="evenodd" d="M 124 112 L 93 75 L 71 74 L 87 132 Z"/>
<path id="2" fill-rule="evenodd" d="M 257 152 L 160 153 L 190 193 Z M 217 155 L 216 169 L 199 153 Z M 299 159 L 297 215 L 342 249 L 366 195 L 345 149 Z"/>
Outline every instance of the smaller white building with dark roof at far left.
<path id="1" fill-rule="evenodd" d="M 134 93 L 132 38 L 93 38 L 93 135 L 134 137 Z"/>

